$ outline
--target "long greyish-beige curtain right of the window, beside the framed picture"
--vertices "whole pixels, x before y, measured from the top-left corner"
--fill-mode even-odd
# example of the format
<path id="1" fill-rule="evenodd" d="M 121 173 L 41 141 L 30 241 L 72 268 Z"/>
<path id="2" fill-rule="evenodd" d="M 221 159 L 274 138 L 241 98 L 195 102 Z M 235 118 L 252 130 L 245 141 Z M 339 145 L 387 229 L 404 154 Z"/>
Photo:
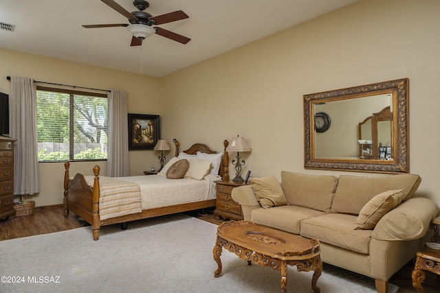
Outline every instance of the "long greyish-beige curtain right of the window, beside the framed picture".
<path id="1" fill-rule="evenodd" d="M 129 176 L 129 130 L 126 92 L 112 89 L 109 99 L 107 176 Z"/>

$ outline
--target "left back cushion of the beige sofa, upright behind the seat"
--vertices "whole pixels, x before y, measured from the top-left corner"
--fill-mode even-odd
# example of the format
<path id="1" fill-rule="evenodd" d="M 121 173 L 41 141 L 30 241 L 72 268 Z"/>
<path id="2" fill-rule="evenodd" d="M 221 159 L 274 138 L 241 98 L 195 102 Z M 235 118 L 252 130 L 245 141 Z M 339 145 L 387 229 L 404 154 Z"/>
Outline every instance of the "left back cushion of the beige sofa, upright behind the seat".
<path id="1" fill-rule="evenodd" d="M 337 184 L 336 176 L 281 172 L 281 185 L 287 202 L 298 207 L 328 212 Z"/>

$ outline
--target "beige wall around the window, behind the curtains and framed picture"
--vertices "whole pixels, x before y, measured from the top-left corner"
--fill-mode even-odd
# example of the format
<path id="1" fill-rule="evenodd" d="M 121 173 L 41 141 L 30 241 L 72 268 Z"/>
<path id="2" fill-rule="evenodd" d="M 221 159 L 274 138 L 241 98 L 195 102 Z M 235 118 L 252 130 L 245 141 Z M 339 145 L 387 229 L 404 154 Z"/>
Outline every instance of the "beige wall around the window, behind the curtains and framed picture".
<path id="1" fill-rule="evenodd" d="M 159 80 L 142 74 L 104 69 L 54 58 L 45 58 L 17 51 L 0 49 L 0 91 L 9 93 L 6 76 L 25 76 L 43 82 L 85 86 L 95 89 L 122 89 L 129 97 L 129 113 L 160 115 Z M 128 126 L 127 126 L 128 127 Z M 127 142 L 128 143 L 128 142 Z M 136 150 L 129 152 L 130 174 L 141 175 L 144 169 L 159 167 L 156 152 Z M 71 175 L 84 172 L 92 175 L 94 165 L 100 165 L 105 174 L 106 162 L 72 163 Z M 63 163 L 40 163 L 40 193 L 32 196 L 36 206 L 63 202 Z"/>

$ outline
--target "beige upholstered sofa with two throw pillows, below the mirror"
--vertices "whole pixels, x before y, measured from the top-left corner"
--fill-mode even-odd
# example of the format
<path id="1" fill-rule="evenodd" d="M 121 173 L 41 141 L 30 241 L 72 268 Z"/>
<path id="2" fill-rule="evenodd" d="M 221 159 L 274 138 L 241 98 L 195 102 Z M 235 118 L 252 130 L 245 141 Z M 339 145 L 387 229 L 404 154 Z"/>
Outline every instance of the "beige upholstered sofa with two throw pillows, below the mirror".
<path id="1" fill-rule="evenodd" d="M 375 279 L 377 292 L 430 240 L 439 207 L 413 196 L 415 174 L 251 178 L 232 198 L 244 220 L 320 240 L 321 258 Z"/>

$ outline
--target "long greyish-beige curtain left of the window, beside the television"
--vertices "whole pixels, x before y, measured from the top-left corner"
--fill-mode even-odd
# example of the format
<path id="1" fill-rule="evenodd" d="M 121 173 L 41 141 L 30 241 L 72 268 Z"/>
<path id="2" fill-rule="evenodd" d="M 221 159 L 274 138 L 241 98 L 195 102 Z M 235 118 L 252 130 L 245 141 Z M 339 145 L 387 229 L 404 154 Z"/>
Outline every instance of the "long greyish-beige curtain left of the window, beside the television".
<path id="1" fill-rule="evenodd" d="M 36 139 L 36 86 L 31 78 L 11 77 L 10 135 L 14 150 L 14 194 L 37 194 L 39 159 Z"/>

